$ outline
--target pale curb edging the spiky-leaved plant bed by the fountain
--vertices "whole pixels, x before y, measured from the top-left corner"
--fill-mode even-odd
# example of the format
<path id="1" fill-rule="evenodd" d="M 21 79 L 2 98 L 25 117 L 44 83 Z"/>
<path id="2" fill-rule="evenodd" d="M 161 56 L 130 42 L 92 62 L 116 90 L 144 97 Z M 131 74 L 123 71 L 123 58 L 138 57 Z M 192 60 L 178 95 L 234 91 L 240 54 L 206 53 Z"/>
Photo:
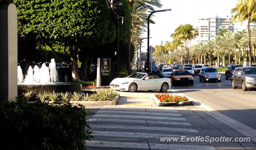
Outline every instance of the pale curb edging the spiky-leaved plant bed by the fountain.
<path id="1" fill-rule="evenodd" d="M 73 105 L 116 105 L 119 100 L 120 94 L 116 94 L 116 98 L 113 101 L 70 101 Z"/>

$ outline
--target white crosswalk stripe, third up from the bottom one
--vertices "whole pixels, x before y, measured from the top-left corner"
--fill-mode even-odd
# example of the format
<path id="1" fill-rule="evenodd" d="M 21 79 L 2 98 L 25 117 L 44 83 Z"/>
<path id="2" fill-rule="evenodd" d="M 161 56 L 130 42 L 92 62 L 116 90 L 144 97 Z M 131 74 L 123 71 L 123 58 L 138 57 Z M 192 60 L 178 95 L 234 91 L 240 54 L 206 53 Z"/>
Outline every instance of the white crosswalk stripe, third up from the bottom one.
<path id="1" fill-rule="evenodd" d="M 94 128 L 120 128 L 120 129 L 136 129 L 136 130 L 159 130 L 159 131 L 174 131 L 174 132 L 198 132 L 192 128 L 167 128 L 156 126 L 127 126 L 127 125 L 113 125 L 113 124 L 91 124 L 91 130 Z"/>

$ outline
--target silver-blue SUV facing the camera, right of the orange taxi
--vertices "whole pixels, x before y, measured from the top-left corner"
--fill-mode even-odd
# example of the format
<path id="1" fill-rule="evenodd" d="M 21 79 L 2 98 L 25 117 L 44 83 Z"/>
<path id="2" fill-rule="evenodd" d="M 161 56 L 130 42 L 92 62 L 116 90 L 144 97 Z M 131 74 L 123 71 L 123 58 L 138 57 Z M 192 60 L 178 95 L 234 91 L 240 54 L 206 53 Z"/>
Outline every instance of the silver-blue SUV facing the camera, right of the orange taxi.
<path id="1" fill-rule="evenodd" d="M 203 67 L 201 68 L 201 71 L 199 73 L 199 81 L 221 81 L 221 75 L 216 70 L 216 68 L 213 67 Z"/>

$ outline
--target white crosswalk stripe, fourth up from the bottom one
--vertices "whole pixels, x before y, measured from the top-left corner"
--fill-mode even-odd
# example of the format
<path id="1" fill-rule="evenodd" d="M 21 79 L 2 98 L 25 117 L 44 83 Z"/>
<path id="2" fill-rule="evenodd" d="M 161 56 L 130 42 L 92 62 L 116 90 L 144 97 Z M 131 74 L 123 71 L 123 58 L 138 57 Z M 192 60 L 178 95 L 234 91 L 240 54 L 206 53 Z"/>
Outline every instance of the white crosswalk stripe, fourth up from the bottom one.
<path id="1" fill-rule="evenodd" d="M 125 122 L 136 124 L 161 124 L 161 125 L 177 125 L 177 126 L 192 126 L 186 122 L 168 122 L 168 121 L 150 121 L 150 120 L 124 120 L 124 119 L 103 119 L 103 118 L 91 118 L 89 122 Z M 89 123 L 90 124 L 90 123 Z"/>

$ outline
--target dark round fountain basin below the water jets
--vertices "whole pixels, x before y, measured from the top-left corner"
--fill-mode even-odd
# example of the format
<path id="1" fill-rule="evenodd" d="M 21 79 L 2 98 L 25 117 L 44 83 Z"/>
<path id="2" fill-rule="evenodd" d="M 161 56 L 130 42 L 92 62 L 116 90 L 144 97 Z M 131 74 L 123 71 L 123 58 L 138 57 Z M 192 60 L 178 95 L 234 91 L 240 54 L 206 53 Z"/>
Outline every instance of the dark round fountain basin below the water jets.
<path id="1" fill-rule="evenodd" d="M 49 84 L 18 84 L 18 92 L 30 91 L 35 94 L 42 92 L 80 92 L 82 84 L 77 82 L 56 82 Z"/>

